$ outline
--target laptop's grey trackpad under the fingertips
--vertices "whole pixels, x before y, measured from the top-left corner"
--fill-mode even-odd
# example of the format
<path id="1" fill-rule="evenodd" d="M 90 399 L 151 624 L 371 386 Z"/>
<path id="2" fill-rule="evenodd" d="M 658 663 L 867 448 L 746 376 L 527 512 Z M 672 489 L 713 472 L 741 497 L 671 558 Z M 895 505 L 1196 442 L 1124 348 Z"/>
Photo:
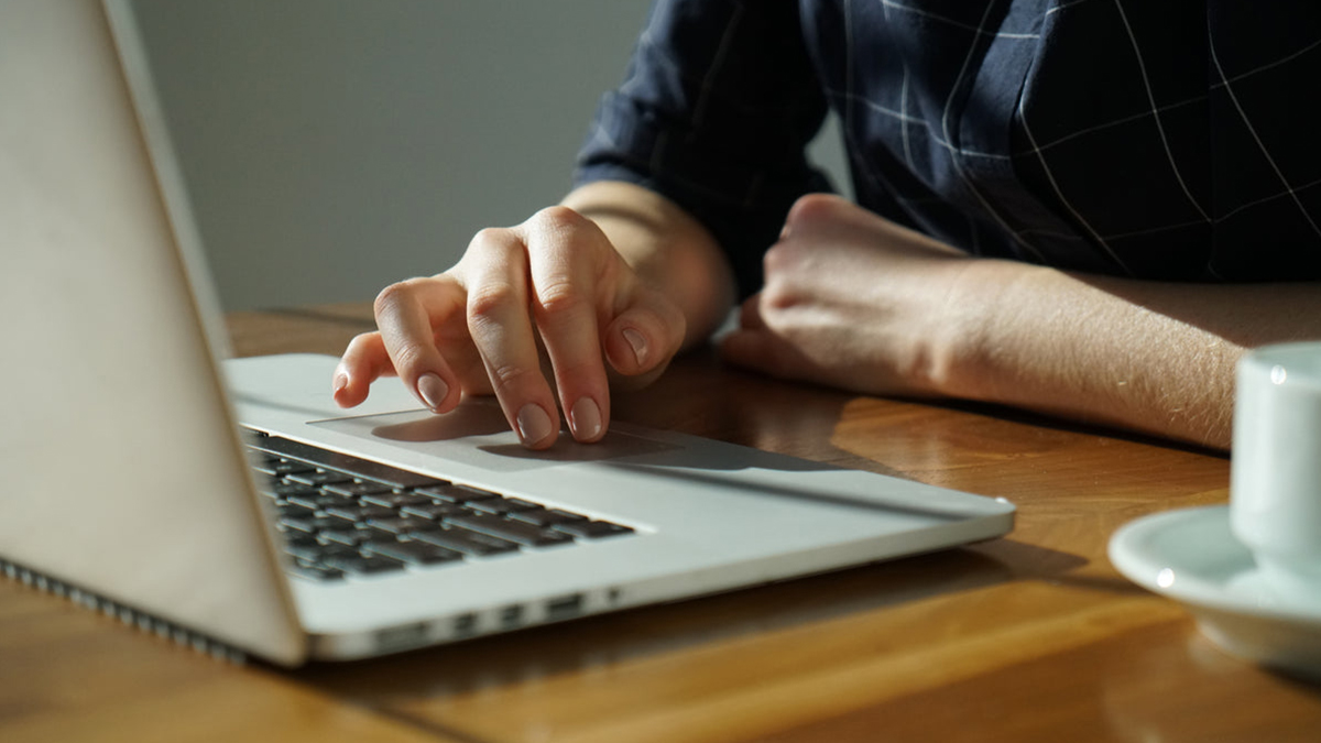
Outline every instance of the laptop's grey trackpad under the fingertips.
<path id="1" fill-rule="evenodd" d="M 675 444 L 618 431 L 594 444 L 580 444 L 568 431 L 548 450 L 524 448 L 509 428 L 499 405 L 468 399 L 444 415 L 408 410 L 379 415 L 314 420 L 317 426 L 420 453 L 498 469 L 531 469 L 571 461 L 606 461 L 679 448 Z"/>

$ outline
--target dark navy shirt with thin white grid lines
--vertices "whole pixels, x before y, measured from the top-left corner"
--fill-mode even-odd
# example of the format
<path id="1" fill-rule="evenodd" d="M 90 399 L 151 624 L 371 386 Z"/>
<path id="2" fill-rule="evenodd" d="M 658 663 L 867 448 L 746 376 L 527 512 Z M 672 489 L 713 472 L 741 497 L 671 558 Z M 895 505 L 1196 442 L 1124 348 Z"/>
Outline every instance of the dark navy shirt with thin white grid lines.
<path id="1" fill-rule="evenodd" d="M 830 107 L 859 204 L 970 253 L 1317 280 L 1318 90 L 1304 0 L 660 0 L 575 180 L 668 196 L 749 292 L 830 188 L 804 156 Z"/>

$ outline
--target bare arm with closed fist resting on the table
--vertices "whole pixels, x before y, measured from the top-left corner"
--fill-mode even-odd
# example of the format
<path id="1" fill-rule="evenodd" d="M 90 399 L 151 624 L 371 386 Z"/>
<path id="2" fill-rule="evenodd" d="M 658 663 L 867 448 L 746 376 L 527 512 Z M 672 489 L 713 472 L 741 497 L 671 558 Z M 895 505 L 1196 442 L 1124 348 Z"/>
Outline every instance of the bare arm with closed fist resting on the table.
<path id="1" fill-rule="evenodd" d="M 766 256 L 727 358 L 872 393 L 1012 405 L 1230 446 L 1244 349 L 1321 338 L 1321 286 L 1207 286 L 968 258 L 811 196 Z"/>

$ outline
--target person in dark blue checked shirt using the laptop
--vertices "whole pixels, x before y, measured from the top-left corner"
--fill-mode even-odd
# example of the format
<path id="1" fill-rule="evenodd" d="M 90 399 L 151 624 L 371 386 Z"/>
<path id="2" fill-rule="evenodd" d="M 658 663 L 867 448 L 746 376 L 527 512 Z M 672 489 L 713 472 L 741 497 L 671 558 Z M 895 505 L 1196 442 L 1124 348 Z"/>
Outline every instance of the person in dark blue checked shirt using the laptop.
<path id="1" fill-rule="evenodd" d="M 1238 357 L 1321 337 L 1318 40 L 1304 3 L 660 1 L 573 190 L 382 291 L 336 401 L 596 442 L 741 301 L 738 366 L 1227 448 Z"/>

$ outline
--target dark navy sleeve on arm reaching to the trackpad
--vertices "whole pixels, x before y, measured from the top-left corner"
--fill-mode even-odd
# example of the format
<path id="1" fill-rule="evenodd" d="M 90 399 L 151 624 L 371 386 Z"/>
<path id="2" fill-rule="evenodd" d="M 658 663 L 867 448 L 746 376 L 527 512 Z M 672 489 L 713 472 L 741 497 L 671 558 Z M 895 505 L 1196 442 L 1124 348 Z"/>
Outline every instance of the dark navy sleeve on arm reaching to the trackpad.
<path id="1" fill-rule="evenodd" d="M 824 116 L 795 0 L 660 0 L 624 83 L 601 98 L 573 181 L 675 201 L 720 242 L 746 296 L 789 206 L 830 190 L 806 157 Z"/>

